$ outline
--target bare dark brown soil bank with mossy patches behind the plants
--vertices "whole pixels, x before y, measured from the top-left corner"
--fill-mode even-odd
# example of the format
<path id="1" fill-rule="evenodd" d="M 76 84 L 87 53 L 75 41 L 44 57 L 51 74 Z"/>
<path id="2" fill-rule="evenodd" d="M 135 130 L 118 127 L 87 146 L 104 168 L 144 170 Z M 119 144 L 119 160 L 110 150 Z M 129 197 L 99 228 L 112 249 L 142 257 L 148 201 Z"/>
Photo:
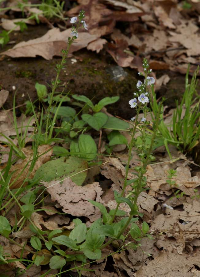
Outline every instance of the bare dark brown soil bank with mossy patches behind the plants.
<path id="1" fill-rule="evenodd" d="M 29 26 L 23 33 L 16 32 L 11 34 L 10 41 L 15 43 L 27 41 L 44 35 L 48 31 L 46 25 Z M 7 45 L 3 50 L 9 49 L 13 45 Z M 107 106 L 108 112 L 117 115 L 126 120 L 134 116 L 133 109 L 128 105 L 136 88 L 138 74 L 136 70 L 122 69 L 126 76 L 123 78 L 113 77 L 113 67 L 116 63 L 113 58 L 104 50 L 96 54 L 87 49 L 82 49 L 74 53 L 73 58 L 77 62 L 71 62 L 68 58 L 65 69 L 61 73 L 60 80 L 64 86 L 64 93 L 76 93 L 86 95 L 92 99 L 94 104 L 106 96 L 120 97 L 120 100 L 114 105 Z M 60 61 L 60 57 L 54 57 L 50 61 L 42 57 L 36 58 L 10 58 L 2 56 L 1 58 L 1 76 L 0 83 L 4 89 L 10 91 L 9 99 L 6 101 L 5 109 L 13 107 L 13 96 L 16 92 L 16 105 L 22 105 L 29 97 L 32 101 L 37 100 L 35 83 L 49 85 L 54 80 L 56 72 L 55 65 Z M 169 108 L 175 107 L 175 99 L 181 99 L 184 92 L 185 76 L 171 71 L 160 70 L 156 73 L 157 77 L 168 74 L 170 81 L 167 86 L 162 86 L 157 92 L 158 98 L 165 97 L 165 105 Z M 117 79 L 117 80 L 116 80 Z M 67 85 L 67 86 L 66 86 Z M 12 87 L 15 86 L 14 91 Z M 50 87 L 48 86 L 50 93 Z M 21 110 L 24 108 L 21 107 Z M 18 111 L 20 112 L 20 111 Z"/>

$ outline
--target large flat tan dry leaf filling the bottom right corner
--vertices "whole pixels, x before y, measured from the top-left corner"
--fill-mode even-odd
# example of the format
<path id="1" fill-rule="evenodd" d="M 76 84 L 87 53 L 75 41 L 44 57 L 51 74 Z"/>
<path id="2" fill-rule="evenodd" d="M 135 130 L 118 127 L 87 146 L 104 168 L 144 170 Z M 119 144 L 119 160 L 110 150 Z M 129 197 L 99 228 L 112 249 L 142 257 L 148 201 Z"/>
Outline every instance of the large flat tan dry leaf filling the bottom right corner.
<path id="1" fill-rule="evenodd" d="M 193 265 L 200 266 L 200 255 L 174 254 L 163 251 L 148 265 L 137 271 L 135 277 L 162 276 L 162 277 L 183 277 L 188 275 Z M 193 275 L 194 276 L 194 275 Z"/>

